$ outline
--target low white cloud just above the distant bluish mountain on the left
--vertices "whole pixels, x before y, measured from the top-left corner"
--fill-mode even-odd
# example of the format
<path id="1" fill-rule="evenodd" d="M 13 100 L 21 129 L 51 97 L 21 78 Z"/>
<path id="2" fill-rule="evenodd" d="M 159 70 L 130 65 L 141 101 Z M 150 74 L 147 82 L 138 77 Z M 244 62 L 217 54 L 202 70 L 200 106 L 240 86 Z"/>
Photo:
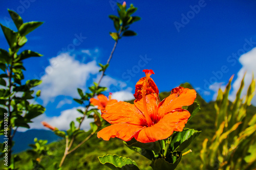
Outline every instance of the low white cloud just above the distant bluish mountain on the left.
<path id="1" fill-rule="evenodd" d="M 82 107 L 78 107 L 78 108 L 82 110 L 84 109 Z M 70 123 L 72 121 L 74 121 L 75 126 L 78 127 L 78 122 L 76 122 L 76 118 L 82 116 L 82 114 L 76 110 L 78 108 L 72 108 L 72 109 L 61 111 L 59 116 L 53 116 L 53 117 L 48 117 L 46 116 L 46 114 L 41 114 L 40 116 L 32 119 L 33 123 L 29 124 L 30 129 L 49 130 L 48 128 L 45 128 L 44 126 L 42 126 L 41 124 L 42 121 L 47 122 L 51 126 L 58 128 L 59 130 L 68 130 L 70 128 Z M 84 119 L 81 125 L 81 129 L 86 131 L 89 130 L 91 128 L 90 127 L 91 122 L 94 122 L 93 118 Z M 24 132 L 27 130 L 28 130 L 27 128 L 18 128 L 18 131 L 21 131 L 21 132 Z"/>

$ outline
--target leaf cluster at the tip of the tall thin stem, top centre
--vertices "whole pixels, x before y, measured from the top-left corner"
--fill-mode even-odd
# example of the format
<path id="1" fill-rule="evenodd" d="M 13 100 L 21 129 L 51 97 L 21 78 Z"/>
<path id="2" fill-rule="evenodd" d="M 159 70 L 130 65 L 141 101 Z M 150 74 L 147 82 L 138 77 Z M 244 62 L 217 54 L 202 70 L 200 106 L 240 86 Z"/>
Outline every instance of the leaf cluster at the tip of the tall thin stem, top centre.
<path id="1" fill-rule="evenodd" d="M 137 11 L 138 8 L 135 8 L 133 4 L 126 9 L 126 5 L 118 4 L 118 16 L 110 15 L 110 19 L 113 20 L 116 32 L 110 32 L 110 36 L 118 41 L 122 36 L 134 36 L 137 35 L 136 32 L 129 30 L 130 25 L 141 18 L 138 16 L 131 16 Z"/>

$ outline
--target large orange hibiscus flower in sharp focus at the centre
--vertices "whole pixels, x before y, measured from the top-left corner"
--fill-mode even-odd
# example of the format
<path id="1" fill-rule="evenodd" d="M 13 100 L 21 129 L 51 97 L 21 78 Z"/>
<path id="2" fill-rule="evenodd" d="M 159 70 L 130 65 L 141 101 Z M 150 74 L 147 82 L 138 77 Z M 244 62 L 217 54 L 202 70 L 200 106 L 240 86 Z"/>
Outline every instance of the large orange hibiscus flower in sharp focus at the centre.
<path id="1" fill-rule="evenodd" d="M 176 87 L 160 102 L 159 90 L 150 77 L 153 70 L 143 70 L 146 77 L 135 86 L 134 105 L 118 102 L 101 110 L 103 119 L 112 124 L 98 132 L 98 138 L 118 137 L 129 141 L 133 137 L 143 143 L 165 139 L 174 131 L 182 131 L 190 113 L 182 109 L 196 99 L 196 91 Z"/>

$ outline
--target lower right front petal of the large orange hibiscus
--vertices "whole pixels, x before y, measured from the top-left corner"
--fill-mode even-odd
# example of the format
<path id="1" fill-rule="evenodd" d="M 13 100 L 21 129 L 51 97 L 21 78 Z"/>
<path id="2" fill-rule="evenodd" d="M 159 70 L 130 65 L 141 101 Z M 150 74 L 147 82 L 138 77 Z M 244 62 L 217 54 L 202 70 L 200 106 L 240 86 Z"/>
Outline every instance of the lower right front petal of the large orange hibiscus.
<path id="1" fill-rule="evenodd" d="M 166 139 L 174 131 L 182 131 L 189 117 L 190 113 L 183 109 L 168 113 L 157 124 L 142 129 L 134 137 L 142 143 Z"/>

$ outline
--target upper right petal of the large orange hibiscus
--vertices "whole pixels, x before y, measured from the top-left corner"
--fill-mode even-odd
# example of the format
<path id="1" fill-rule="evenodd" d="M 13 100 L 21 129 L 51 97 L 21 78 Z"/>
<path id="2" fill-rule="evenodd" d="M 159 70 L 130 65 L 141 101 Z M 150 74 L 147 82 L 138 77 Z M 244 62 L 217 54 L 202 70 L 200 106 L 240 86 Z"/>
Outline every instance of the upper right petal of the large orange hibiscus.
<path id="1" fill-rule="evenodd" d="M 177 87 L 173 89 L 172 92 L 172 94 L 159 104 L 159 118 L 175 109 L 181 109 L 182 106 L 189 106 L 193 104 L 197 97 L 197 93 L 194 89 Z"/>

